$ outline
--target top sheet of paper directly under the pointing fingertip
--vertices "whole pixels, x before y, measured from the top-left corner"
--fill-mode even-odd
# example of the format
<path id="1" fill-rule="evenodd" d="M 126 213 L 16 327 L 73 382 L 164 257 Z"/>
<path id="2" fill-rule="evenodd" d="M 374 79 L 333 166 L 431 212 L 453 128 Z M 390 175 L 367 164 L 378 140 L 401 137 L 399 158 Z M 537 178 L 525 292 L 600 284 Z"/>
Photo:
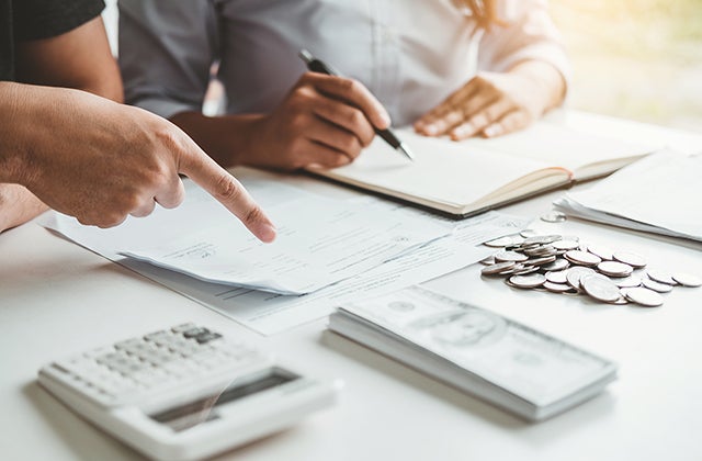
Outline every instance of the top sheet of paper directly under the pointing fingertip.
<path id="1" fill-rule="evenodd" d="M 73 227 L 72 234 L 99 234 L 102 247 L 115 241 L 111 249 L 121 255 L 200 280 L 304 294 L 451 232 L 420 216 L 399 217 L 307 193 L 269 204 L 265 212 L 279 231 L 272 244 L 260 243 L 200 188 L 176 210 L 159 209 L 148 220 L 129 218 L 114 229 Z M 177 225 L 166 225 L 174 220 Z"/>

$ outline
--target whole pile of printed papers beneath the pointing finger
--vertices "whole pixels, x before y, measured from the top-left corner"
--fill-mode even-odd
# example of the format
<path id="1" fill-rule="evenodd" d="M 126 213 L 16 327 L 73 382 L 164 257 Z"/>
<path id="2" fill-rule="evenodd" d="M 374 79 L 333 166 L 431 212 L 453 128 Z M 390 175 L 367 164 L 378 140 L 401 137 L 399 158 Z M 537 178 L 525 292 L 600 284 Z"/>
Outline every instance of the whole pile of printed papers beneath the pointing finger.
<path id="1" fill-rule="evenodd" d="M 529 222 L 496 212 L 455 222 L 373 196 L 330 204 L 328 199 L 285 184 L 284 177 L 244 168 L 236 173 L 279 225 L 273 246 L 258 243 L 229 212 L 189 180 L 184 181 L 186 199 L 179 209 L 157 209 L 148 218 L 129 218 L 116 228 L 81 226 L 75 218 L 54 212 L 41 222 L 263 335 L 327 316 L 346 301 L 389 293 L 458 270 L 490 252 L 476 245 L 519 232 Z M 342 223 L 348 227 L 340 228 Z M 356 229 L 352 235 L 351 228 Z M 319 238 L 322 234 L 327 238 Z M 401 235 L 407 239 L 399 238 Z M 433 238 L 437 235 L 443 237 Z M 429 240 L 414 245 L 422 239 Z M 139 259 L 120 251 L 138 255 Z M 301 269 L 292 259 L 280 261 L 276 256 L 283 254 L 306 258 L 309 266 Z M 151 259 L 168 265 L 156 266 Z M 365 269 L 378 260 L 381 263 Z M 244 265 L 251 267 L 251 272 L 227 270 Z M 317 269 L 308 270 L 312 266 Z M 320 268 L 333 271 L 332 277 L 317 280 Z M 283 283 L 286 288 L 314 288 L 339 274 L 355 274 L 304 295 L 284 295 L 265 292 L 263 286 L 203 280 L 215 270 L 229 278 L 236 274 L 239 282 L 256 276 L 258 283 L 270 282 L 269 291 Z M 194 272 L 205 277 L 195 278 Z"/>

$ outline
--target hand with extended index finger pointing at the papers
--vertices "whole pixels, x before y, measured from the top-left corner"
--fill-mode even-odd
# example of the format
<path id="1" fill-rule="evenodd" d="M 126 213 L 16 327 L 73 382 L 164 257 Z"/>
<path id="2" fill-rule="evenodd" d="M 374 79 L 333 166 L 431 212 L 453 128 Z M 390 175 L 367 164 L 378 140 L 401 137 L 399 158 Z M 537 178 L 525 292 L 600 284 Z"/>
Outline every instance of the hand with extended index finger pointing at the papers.
<path id="1" fill-rule="evenodd" d="M 15 89 L 25 91 L 21 109 L 14 108 L 15 130 L 8 133 L 25 153 L 13 165 L 25 167 L 14 182 L 54 210 L 82 224 L 116 226 L 129 214 L 150 214 L 156 203 L 178 206 L 183 173 L 258 238 L 274 239 L 273 225 L 244 187 L 172 123 L 82 91 Z"/>

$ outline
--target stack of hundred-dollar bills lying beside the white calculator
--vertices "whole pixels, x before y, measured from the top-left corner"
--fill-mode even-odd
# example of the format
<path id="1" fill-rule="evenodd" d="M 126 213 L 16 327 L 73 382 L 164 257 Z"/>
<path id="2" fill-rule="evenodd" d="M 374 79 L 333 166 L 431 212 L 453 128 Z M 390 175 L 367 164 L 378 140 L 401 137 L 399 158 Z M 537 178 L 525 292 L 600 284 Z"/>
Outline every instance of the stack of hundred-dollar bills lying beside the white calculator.
<path id="1" fill-rule="evenodd" d="M 616 366 L 418 286 L 342 304 L 329 328 L 529 420 L 601 392 Z"/>

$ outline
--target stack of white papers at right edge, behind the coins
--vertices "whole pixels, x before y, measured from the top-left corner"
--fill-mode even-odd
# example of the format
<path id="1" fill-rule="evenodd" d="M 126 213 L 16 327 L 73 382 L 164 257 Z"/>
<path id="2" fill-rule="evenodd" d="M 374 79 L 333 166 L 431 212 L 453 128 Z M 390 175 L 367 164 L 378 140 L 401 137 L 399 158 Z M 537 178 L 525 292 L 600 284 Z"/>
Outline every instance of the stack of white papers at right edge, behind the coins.
<path id="1" fill-rule="evenodd" d="M 702 241 L 702 155 L 660 151 L 554 202 L 584 220 Z"/>

